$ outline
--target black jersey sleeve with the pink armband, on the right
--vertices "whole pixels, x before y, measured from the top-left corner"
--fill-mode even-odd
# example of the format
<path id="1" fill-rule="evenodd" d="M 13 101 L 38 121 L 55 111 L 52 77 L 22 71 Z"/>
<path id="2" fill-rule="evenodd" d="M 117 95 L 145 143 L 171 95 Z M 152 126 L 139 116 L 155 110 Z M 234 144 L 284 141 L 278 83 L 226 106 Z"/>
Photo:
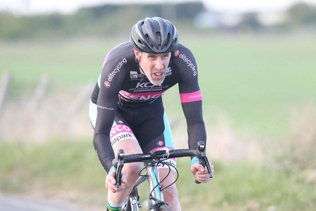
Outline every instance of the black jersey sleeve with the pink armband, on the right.
<path id="1" fill-rule="evenodd" d="M 197 82 L 197 64 L 191 51 L 178 48 L 176 65 L 179 68 L 179 94 L 187 122 L 188 146 L 197 149 L 197 142 L 206 144 L 206 131 L 202 116 L 202 94 Z"/>

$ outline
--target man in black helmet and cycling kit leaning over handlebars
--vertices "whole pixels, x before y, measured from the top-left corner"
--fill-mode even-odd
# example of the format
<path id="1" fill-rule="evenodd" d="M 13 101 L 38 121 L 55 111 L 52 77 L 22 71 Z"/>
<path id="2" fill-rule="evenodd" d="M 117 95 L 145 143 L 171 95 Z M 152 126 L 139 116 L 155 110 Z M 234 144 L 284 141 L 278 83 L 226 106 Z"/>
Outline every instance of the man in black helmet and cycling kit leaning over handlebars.
<path id="1" fill-rule="evenodd" d="M 116 188 L 112 159 L 119 149 L 126 155 L 175 149 L 161 98 L 173 85 L 179 84 L 189 148 L 197 148 L 199 140 L 206 142 L 197 65 L 191 51 L 179 44 L 178 30 L 160 17 L 146 18 L 133 26 L 130 40 L 106 54 L 89 108 L 94 148 L 108 173 L 107 210 L 119 210 L 126 203 L 143 168 L 142 163 L 125 164 L 122 185 Z M 166 162 L 176 166 L 174 158 Z M 159 176 L 165 177 L 168 166 L 158 168 Z M 210 180 L 196 157 L 191 159 L 191 172 L 199 182 Z M 171 171 L 162 184 L 174 178 L 175 171 Z M 163 196 L 173 211 L 181 210 L 175 184 L 163 190 Z"/>

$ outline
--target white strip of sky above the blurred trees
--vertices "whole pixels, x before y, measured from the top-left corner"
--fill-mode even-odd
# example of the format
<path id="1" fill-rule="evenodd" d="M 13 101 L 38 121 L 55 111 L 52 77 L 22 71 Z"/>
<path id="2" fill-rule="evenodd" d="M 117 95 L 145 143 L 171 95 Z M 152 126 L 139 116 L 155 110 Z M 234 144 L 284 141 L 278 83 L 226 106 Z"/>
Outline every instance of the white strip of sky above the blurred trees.
<path id="1" fill-rule="evenodd" d="M 195 0 L 173 0 L 173 3 Z M 280 11 L 300 0 L 200 0 L 209 9 L 225 13 L 246 11 Z M 303 0 L 316 5 L 316 0 Z M 116 0 L 115 3 L 163 3 L 170 0 Z M 36 14 L 47 12 L 72 13 L 82 6 L 113 3 L 112 0 L 0 0 L 0 10 L 6 9 L 15 14 Z"/>

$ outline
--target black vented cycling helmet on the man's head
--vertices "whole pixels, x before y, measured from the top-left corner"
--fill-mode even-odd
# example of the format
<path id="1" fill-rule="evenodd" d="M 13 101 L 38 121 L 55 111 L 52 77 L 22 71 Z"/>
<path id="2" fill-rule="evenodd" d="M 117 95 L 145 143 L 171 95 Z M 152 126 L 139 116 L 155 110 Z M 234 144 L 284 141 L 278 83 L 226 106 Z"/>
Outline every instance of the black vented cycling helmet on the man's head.
<path id="1" fill-rule="evenodd" d="M 179 33 L 172 22 L 160 17 L 145 18 L 132 28 L 131 43 L 137 51 L 168 53 L 179 45 Z"/>

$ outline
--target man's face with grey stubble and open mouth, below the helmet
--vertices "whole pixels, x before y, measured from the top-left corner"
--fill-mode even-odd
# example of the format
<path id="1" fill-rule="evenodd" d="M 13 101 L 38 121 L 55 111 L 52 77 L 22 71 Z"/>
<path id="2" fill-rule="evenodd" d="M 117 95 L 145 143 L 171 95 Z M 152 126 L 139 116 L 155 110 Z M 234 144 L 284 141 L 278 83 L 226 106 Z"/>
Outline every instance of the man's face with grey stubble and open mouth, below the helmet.
<path id="1" fill-rule="evenodd" d="M 166 76 L 166 70 L 169 65 L 171 52 L 169 53 L 146 53 L 135 52 L 138 55 L 138 62 L 143 68 L 144 74 L 149 79 L 150 83 L 159 85 L 163 82 Z M 137 57 L 136 55 L 136 57 Z"/>

